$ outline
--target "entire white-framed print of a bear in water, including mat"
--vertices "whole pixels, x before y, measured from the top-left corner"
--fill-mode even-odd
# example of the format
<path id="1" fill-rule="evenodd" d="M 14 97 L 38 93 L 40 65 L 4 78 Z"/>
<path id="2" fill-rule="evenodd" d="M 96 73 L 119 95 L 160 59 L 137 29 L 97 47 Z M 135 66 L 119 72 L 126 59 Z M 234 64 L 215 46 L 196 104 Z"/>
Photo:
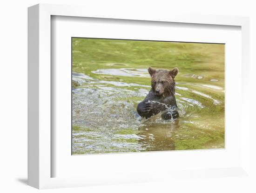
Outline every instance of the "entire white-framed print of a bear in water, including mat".
<path id="1" fill-rule="evenodd" d="M 30 186 L 250 178 L 249 19 L 152 17 L 29 7 Z"/>

